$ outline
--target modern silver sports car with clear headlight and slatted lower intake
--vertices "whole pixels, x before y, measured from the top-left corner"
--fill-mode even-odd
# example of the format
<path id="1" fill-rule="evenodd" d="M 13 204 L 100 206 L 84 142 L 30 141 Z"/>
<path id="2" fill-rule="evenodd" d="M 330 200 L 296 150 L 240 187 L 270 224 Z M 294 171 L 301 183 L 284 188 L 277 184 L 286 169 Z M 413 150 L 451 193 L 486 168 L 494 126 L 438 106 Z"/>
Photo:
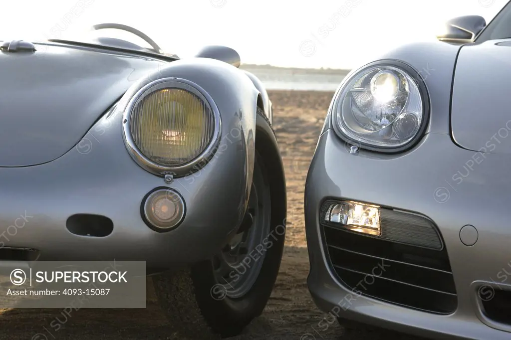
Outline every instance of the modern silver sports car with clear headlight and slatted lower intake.
<path id="1" fill-rule="evenodd" d="M 349 326 L 511 338 L 511 4 L 353 70 L 305 189 L 310 292 Z"/>

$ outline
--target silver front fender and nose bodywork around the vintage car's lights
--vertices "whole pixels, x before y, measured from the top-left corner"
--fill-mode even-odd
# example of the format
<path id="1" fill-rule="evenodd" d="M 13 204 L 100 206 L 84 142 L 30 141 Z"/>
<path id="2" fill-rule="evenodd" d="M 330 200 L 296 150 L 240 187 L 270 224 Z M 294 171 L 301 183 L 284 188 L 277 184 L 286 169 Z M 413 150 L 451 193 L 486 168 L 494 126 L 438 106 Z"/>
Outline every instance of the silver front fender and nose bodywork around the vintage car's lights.
<path id="1" fill-rule="evenodd" d="M 122 129 L 123 106 L 132 93 L 167 77 L 186 79 L 210 94 L 222 123 L 213 158 L 171 183 L 131 158 Z M 210 258 L 245 213 L 258 95 L 243 72 L 220 61 L 176 61 L 152 72 L 133 84 L 117 108 L 62 157 L 36 166 L 0 168 L 0 199 L 5 202 L 0 207 L 1 241 L 5 247 L 33 249 L 41 260 L 138 259 L 146 260 L 148 268 L 163 269 Z M 31 178 L 35 182 L 27 180 Z M 183 222 L 168 232 L 150 229 L 141 216 L 144 197 L 161 186 L 178 191 L 186 205 Z M 11 228 L 20 214 L 28 214 L 29 222 Z M 105 237 L 77 235 L 66 229 L 74 214 L 106 216 L 113 230 Z"/>

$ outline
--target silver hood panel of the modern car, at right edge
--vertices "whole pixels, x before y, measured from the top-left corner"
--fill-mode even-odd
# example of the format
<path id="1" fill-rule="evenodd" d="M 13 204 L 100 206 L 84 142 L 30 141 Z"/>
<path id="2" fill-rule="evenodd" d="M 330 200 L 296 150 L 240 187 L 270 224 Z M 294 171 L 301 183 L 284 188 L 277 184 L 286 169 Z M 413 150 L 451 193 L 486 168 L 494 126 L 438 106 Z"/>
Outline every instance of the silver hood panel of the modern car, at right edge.
<path id="1" fill-rule="evenodd" d="M 451 123 L 463 148 L 511 153 L 511 39 L 466 45 L 454 75 Z"/>

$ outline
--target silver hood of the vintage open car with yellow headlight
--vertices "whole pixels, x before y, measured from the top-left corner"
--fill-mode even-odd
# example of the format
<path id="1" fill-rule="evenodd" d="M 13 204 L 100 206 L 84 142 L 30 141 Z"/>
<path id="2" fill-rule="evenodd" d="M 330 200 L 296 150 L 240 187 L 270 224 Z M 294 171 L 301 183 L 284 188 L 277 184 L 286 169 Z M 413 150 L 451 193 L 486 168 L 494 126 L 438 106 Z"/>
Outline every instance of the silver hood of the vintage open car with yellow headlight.
<path id="1" fill-rule="evenodd" d="M 134 81 L 162 63 L 64 44 L 36 48 L 0 53 L 0 166 L 62 156 Z"/>

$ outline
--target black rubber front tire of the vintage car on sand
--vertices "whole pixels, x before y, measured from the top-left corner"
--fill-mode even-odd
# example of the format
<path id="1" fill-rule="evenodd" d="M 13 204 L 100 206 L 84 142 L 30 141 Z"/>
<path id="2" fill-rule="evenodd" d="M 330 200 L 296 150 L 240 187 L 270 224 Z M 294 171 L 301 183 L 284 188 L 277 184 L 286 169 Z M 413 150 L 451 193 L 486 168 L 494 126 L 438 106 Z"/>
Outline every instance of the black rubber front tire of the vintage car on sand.
<path id="1" fill-rule="evenodd" d="M 191 339 L 236 336 L 261 315 L 270 297 L 284 250 L 286 204 L 285 193 L 284 204 L 277 202 L 282 201 L 282 196 L 273 195 L 269 174 L 274 165 L 264 158 L 264 151 L 258 150 L 257 145 L 256 142 L 254 181 L 255 173 L 260 171 L 272 201 L 259 273 L 250 289 L 240 297 L 229 296 L 229 287 L 219 282 L 214 259 L 177 273 L 155 276 L 153 282 L 160 306 L 173 331 L 180 336 Z"/>

